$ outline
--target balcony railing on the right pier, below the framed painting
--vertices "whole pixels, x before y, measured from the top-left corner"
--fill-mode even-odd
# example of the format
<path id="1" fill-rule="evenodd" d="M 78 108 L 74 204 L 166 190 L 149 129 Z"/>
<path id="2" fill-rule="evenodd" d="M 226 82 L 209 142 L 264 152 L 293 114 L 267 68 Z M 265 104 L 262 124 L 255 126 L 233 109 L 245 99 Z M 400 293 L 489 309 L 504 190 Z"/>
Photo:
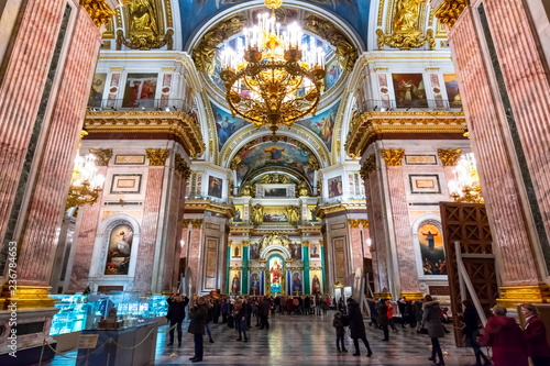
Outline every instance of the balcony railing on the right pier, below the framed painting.
<path id="1" fill-rule="evenodd" d="M 363 102 L 358 101 L 360 113 L 365 112 L 389 112 L 389 111 L 460 111 L 461 101 L 449 101 L 446 99 L 370 99 Z"/>

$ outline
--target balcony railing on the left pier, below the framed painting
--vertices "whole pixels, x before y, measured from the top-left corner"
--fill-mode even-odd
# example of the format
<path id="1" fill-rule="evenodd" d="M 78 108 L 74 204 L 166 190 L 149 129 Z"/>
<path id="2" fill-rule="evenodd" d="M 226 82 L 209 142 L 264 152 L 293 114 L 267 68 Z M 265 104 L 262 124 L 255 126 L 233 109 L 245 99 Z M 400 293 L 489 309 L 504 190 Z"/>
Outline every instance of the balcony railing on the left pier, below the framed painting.
<path id="1" fill-rule="evenodd" d="M 102 99 L 88 101 L 88 110 L 100 111 L 165 111 L 191 113 L 188 102 L 183 99 Z"/>

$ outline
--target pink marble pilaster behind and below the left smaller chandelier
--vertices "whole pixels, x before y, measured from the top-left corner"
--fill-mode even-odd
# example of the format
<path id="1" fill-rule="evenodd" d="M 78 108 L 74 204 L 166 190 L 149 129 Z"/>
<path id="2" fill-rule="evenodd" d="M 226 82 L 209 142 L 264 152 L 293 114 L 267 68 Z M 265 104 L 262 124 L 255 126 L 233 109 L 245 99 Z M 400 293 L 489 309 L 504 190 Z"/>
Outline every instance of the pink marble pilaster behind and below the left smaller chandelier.
<path id="1" fill-rule="evenodd" d="M 106 177 L 107 167 L 99 166 L 98 174 Z M 68 291 L 82 291 L 88 284 L 102 199 L 103 191 L 99 193 L 96 203 L 92 206 L 87 204 L 78 209 L 78 215 L 81 221 L 78 229 L 78 236 L 74 240 L 75 256 L 73 258 L 70 280 L 67 286 Z"/>

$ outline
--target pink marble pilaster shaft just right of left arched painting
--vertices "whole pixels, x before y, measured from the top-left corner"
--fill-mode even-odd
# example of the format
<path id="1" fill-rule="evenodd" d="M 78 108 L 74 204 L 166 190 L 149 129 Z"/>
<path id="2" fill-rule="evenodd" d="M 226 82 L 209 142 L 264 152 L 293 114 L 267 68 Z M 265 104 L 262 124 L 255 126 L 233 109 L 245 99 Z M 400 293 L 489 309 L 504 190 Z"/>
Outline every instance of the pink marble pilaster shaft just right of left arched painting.
<path id="1" fill-rule="evenodd" d="M 161 198 L 163 190 L 165 167 L 152 166 L 148 168 L 145 202 L 143 203 L 142 232 L 140 247 L 138 248 L 138 263 L 133 291 L 150 291 L 153 278 L 155 247 L 157 244 L 158 214 L 161 212 Z"/>

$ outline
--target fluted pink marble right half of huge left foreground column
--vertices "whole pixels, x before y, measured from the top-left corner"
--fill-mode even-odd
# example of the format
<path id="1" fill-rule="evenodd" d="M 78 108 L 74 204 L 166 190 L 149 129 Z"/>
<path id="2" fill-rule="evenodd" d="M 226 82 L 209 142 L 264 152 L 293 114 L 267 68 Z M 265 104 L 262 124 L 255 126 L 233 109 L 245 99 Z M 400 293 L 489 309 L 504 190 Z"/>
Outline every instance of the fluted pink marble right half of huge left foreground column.
<path id="1" fill-rule="evenodd" d="M 55 1 L 52 4 L 51 1 L 41 3 L 56 9 Z M 67 36 L 70 36 L 70 46 L 48 121 L 47 138 L 38 153 L 38 169 L 33 185 L 25 192 L 29 207 L 20 236 L 18 259 L 22 265 L 18 268 L 19 285 L 50 282 L 57 245 L 56 232 L 64 213 L 79 130 L 89 96 L 90 75 L 99 49 L 98 27 L 82 8 L 78 8 L 75 29 Z M 34 82 L 32 79 L 28 80 Z"/>

